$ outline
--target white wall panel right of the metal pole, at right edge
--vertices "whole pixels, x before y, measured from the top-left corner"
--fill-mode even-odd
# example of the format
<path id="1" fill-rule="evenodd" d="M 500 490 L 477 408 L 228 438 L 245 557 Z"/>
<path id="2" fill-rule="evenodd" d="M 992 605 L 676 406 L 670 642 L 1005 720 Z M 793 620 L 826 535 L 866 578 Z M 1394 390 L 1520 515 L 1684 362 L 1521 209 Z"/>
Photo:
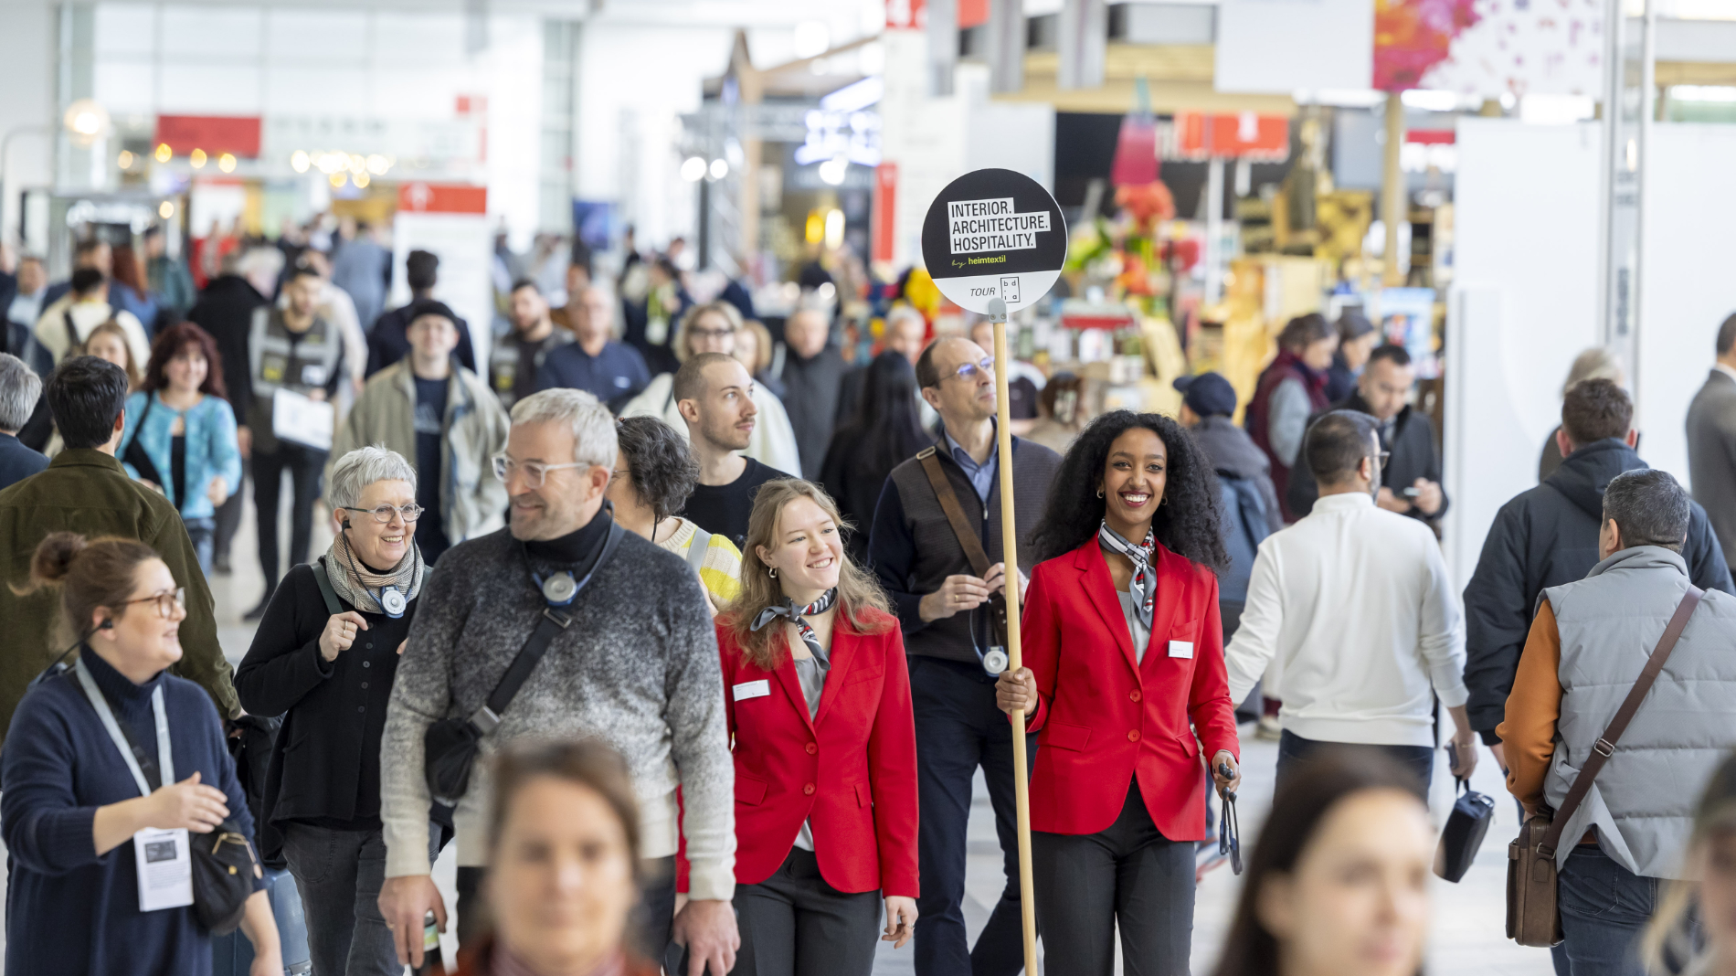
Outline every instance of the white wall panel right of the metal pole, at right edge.
<path id="1" fill-rule="evenodd" d="M 1654 125 L 1647 149 L 1641 288 L 1641 455 L 1687 483 L 1687 403 L 1712 368 L 1719 323 L 1736 313 L 1731 228 L 1736 125 Z"/>

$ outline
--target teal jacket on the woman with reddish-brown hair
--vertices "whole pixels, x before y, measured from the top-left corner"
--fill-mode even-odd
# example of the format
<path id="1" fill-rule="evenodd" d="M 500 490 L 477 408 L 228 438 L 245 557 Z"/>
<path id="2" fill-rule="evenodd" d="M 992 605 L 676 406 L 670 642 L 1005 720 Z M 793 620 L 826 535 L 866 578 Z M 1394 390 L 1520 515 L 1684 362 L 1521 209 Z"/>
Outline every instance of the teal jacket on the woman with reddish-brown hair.
<path id="1" fill-rule="evenodd" d="M 144 398 L 153 398 L 151 415 L 144 417 Z M 187 497 L 175 497 L 175 476 L 170 472 L 170 431 L 175 425 L 175 412 L 163 405 L 163 399 L 151 392 L 135 392 L 127 398 L 127 427 L 120 434 L 120 448 L 115 457 L 127 457 L 127 446 L 134 438 L 144 448 L 144 455 L 156 465 L 163 483 L 163 497 L 175 505 L 184 519 L 208 519 L 215 514 L 212 500 L 205 497 L 205 488 L 212 478 L 222 478 L 234 495 L 241 488 L 241 448 L 234 438 L 234 410 L 219 396 L 207 396 L 186 412 L 187 427 Z M 144 429 L 139 419 L 144 417 Z M 130 464 L 122 464 L 127 474 L 139 478 Z"/>

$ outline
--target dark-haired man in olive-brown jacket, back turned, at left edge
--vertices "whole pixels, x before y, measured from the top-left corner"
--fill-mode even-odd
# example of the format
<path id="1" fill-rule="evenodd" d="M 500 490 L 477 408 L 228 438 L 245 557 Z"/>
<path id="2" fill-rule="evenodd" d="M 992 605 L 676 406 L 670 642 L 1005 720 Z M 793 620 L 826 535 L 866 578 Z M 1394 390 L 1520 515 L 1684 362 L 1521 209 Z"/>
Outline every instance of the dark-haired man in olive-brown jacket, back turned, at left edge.
<path id="1" fill-rule="evenodd" d="M 181 512 L 156 491 L 127 476 L 115 458 L 127 424 L 127 375 L 115 363 L 75 356 L 49 377 L 49 408 L 66 450 L 49 467 L 0 491 L 0 578 L 30 578 L 36 545 L 54 531 L 135 538 L 155 551 L 186 589 L 179 627 L 181 656 L 174 672 L 212 696 L 217 712 L 240 710 L 229 663 L 217 643 L 210 587 Z M 54 629 L 61 610 L 45 592 L 17 594 L 0 585 L 0 722 L 24 696 L 30 679 L 54 662 Z M 64 644 L 61 644 L 64 646 Z"/>

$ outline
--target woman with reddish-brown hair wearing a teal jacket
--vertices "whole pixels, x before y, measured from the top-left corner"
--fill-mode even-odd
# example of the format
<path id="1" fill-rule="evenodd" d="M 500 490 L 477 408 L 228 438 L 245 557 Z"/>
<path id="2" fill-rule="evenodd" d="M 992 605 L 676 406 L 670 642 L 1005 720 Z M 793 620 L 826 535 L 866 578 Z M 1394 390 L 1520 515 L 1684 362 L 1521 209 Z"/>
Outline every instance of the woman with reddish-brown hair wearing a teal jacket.
<path id="1" fill-rule="evenodd" d="M 151 344 L 139 392 L 127 398 L 122 465 L 181 512 L 200 570 L 212 570 L 217 505 L 241 488 L 234 412 L 224 401 L 217 342 L 184 321 Z M 132 445 L 139 445 L 130 452 Z M 127 460 L 132 457 L 134 460 Z M 144 464 L 144 471 L 137 464 Z"/>

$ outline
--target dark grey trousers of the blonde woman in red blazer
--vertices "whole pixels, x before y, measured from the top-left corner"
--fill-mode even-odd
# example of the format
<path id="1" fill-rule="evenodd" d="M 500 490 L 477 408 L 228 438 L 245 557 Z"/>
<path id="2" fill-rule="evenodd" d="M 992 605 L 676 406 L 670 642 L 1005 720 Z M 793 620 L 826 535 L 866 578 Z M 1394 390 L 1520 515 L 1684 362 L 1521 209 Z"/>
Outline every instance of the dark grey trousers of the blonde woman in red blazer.
<path id="1" fill-rule="evenodd" d="M 838 891 L 819 877 L 812 851 L 790 847 L 771 877 L 736 886 L 736 926 L 734 976 L 870 976 L 880 893 Z"/>

